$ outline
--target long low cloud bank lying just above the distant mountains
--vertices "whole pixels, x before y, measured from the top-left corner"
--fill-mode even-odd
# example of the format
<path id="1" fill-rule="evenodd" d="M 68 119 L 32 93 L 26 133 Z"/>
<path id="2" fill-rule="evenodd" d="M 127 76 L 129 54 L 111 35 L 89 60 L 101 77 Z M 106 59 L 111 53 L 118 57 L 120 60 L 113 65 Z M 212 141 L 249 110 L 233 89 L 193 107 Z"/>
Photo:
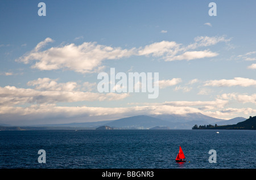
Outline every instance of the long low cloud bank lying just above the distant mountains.
<path id="1" fill-rule="evenodd" d="M 54 119 L 54 118 L 77 118 L 81 117 L 85 121 L 110 120 L 133 115 L 151 115 L 151 114 L 187 114 L 203 113 L 202 110 L 193 106 L 215 105 L 216 102 L 166 102 L 158 105 L 129 106 L 118 108 L 90 107 L 90 106 L 56 106 L 55 104 L 37 104 L 26 108 L 18 106 L 0 106 L 0 117 L 8 115 L 11 120 L 16 119 Z M 191 105 L 191 106 L 189 106 Z M 24 122 L 24 121 L 23 121 Z M 9 122 L 10 123 L 10 122 Z M 56 123 L 56 122 L 55 122 Z M 63 123 L 63 119 L 61 120 Z"/>

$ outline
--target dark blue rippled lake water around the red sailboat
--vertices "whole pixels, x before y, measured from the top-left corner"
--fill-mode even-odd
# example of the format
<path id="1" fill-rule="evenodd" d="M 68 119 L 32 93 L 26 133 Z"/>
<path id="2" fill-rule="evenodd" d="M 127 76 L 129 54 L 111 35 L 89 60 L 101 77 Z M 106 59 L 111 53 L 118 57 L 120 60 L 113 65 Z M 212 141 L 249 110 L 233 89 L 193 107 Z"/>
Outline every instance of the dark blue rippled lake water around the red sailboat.
<path id="1" fill-rule="evenodd" d="M 0 168 L 255 169 L 256 131 L 218 131 L 0 131 Z M 175 162 L 179 145 L 183 164 Z M 46 164 L 38 162 L 39 149 Z M 209 163 L 210 149 L 217 163 Z"/>

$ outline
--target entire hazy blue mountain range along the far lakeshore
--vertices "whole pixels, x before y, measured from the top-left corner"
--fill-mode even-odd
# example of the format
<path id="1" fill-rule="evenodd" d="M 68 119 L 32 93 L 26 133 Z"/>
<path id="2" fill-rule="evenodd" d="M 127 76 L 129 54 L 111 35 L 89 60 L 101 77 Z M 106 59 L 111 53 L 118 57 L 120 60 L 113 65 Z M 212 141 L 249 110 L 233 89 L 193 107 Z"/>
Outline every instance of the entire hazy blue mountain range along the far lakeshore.
<path id="1" fill-rule="evenodd" d="M 201 113 L 190 113 L 184 115 L 177 114 L 155 114 L 155 115 L 137 115 L 112 121 L 83 122 L 83 123 L 65 123 L 55 125 L 40 125 L 51 127 L 75 127 L 92 128 L 100 126 L 109 126 L 116 128 L 147 129 L 152 127 L 168 127 L 170 129 L 191 129 L 194 125 L 233 125 L 237 122 L 245 121 L 246 118 L 237 117 L 229 120 L 209 117 Z"/>

